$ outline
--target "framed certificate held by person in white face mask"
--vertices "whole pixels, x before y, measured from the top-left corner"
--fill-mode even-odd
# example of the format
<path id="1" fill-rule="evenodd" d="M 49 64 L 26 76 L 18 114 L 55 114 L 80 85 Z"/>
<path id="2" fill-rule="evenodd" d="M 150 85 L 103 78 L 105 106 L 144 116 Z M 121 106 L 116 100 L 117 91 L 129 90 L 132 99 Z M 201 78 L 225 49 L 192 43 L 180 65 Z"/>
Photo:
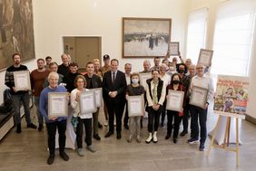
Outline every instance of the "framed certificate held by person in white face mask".
<path id="1" fill-rule="evenodd" d="M 145 110 L 143 95 L 128 96 L 127 105 L 128 105 L 128 116 L 129 117 L 143 116 L 143 113 Z"/>

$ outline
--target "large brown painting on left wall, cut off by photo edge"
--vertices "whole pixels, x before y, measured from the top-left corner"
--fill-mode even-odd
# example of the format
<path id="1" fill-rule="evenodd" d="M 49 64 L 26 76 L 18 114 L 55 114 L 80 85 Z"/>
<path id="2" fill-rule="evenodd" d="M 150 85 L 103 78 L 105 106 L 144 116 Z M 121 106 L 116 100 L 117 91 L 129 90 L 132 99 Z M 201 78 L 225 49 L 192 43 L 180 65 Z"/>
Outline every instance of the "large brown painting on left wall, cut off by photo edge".
<path id="1" fill-rule="evenodd" d="M 22 62 L 34 59 L 32 0 L 0 1 L 0 70 L 13 64 L 18 52 Z"/>

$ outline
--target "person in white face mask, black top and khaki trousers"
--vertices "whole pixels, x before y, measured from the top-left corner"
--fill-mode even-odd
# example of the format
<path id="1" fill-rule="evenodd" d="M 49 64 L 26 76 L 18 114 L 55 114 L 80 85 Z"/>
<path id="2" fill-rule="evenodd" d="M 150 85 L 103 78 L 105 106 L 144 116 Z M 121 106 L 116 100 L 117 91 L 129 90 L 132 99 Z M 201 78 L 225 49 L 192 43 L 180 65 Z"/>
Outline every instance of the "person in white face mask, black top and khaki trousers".
<path id="1" fill-rule="evenodd" d="M 144 88 L 139 84 L 139 73 L 133 73 L 131 75 L 132 84 L 127 86 L 126 97 L 128 96 L 140 96 L 144 94 Z M 142 103 L 144 105 L 144 102 Z M 142 106 L 142 105 L 141 105 Z M 143 108 L 144 109 L 144 108 Z M 143 113 L 141 113 L 143 115 Z M 142 142 L 141 139 L 141 116 L 129 116 L 130 136 L 127 139 L 128 142 L 133 141 L 133 136 L 137 133 L 136 141 Z"/>

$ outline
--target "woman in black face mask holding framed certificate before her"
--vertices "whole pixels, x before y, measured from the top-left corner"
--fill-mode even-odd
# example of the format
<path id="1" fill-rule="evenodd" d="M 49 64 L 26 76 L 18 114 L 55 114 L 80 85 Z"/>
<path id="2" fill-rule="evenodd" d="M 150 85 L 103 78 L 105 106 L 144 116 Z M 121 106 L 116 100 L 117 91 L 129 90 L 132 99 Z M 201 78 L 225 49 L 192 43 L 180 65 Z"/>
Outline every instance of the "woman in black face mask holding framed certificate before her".
<path id="1" fill-rule="evenodd" d="M 174 90 L 174 91 L 173 91 Z M 182 112 L 184 101 L 184 91 L 186 88 L 182 85 L 181 76 L 178 73 L 172 75 L 171 83 L 167 86 L 167 135 L 165 139 L 169 139 L 172 134 L 172 119 L 174 118 L 173 143 L 177 143 L 180 128 L 179 112 Z M 175 91 L 183 91 L 176 93 Z M 171 103 L 171 104 L 170 104 Z M 175 104 L 175 105 L 174 105 Z M 169 107 L 170 106 L 170 107 Z"/>

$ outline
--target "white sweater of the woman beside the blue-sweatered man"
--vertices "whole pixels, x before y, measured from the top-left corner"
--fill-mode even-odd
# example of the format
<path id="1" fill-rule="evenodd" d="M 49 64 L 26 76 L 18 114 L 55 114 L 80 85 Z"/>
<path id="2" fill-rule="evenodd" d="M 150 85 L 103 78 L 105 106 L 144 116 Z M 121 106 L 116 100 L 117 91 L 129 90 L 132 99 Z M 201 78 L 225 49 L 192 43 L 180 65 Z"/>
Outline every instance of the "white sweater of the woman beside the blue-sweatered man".
<path id="1" fill-rule="evenodd" d="M 88 89 L 84 89 L 85 91 L 88 91 Z M 92 113 L 80 113 L 80 106 L 79 102 L 76 101 L 76 93 L 79 92 L 79 90 L 74 89 L 71 91 L 71 107 L 73 109 L 72 113 L 74 117 L 79 117 L 80 119 L 92 119 L 93 114 Z"/>

